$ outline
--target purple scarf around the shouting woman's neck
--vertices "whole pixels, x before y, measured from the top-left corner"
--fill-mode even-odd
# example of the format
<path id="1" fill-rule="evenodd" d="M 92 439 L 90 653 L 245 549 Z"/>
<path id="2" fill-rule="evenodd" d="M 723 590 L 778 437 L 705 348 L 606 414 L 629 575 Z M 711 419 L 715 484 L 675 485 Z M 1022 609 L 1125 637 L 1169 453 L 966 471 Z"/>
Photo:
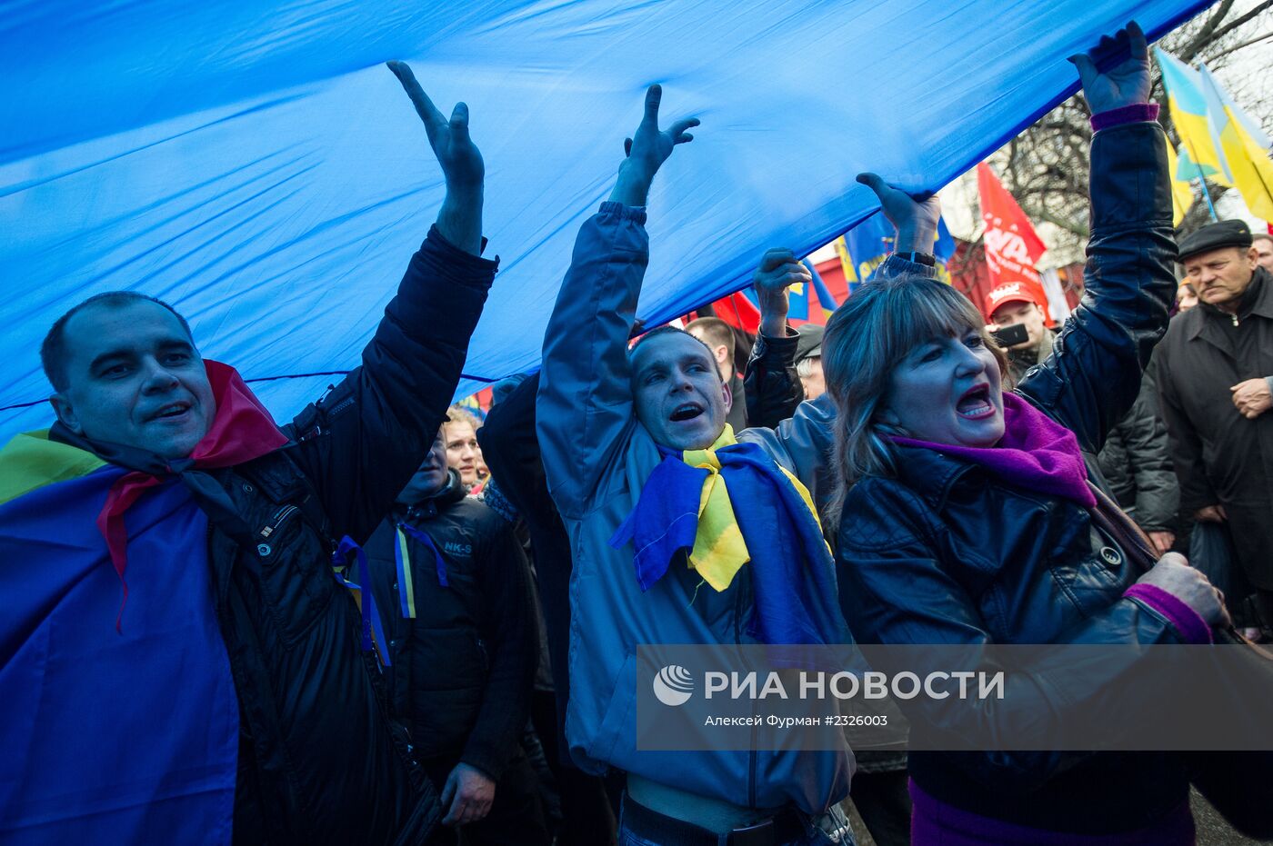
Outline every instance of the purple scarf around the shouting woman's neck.
<path id="1" fill-rule="evenodd" d="M 994 447 L 955 447 L 897 436 L 892 441 L 936 449 L 980 464 L 1009 485 L 1096 508 L 1074 433 L 1015 393 L 1003 394 L 1003 438 Z"/>

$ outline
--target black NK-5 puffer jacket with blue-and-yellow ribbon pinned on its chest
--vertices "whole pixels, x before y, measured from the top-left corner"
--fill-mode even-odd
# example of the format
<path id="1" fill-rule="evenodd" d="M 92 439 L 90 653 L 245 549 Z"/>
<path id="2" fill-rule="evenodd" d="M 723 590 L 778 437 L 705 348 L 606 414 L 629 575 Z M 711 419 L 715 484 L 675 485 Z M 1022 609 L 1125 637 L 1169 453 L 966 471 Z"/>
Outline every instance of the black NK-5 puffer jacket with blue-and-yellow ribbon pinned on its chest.
<path id="1" fill-rule="evenodd" d="M 447 575 L 443 585 L 432 551 L 404 533 L 415 618 L 401 613 L 398 522 L 433 541 Z M 438 495 L 381 523 L 365 552 L 391 639 L 391 701 L 415 756 L 499 780 L 526 730 L 540 646 L 530 565 L 513 527 L 465 496 L 451 471 Z"/>

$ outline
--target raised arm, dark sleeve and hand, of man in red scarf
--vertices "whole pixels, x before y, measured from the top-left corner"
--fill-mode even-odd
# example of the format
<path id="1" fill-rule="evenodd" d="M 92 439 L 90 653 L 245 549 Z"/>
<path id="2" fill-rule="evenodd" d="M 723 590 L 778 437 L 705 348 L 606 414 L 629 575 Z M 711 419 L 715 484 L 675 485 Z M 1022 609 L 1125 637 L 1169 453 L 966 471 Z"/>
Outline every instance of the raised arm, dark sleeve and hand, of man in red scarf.
<path id="1" fill-rule="evenodd" d="M 322 501 L 334 537 L 362 542 L 420 466 L 446 416 L 496 262 L 480 257 L 484 165 L 468 107 L 448 121 L 411 70 L 390 62 L 442 167 L 447 195 L 411 257 L 362 366 L 290 426 L 290 450 Z"/>

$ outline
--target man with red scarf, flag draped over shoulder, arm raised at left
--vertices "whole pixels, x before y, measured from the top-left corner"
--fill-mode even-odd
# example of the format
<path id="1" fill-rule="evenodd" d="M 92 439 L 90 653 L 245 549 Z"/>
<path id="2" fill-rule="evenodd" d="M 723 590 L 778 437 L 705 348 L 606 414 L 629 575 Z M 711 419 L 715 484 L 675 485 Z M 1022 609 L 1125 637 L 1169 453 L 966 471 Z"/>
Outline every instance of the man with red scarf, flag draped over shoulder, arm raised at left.
<path id="1" fill-rule="evenodd" d="M 20 749 L 5 743 L 0 781 L 23 785 L 0 807 L 6 826 L 39 826 L 50 842 L 312 845 L 419 843 L 437 821 L 328 538 L 368 537 L 428 452 L 495 262 L 480 258 L 484 169 L 467 108 L 448 122 L 405 65 L 391 69 L 425 123 L 446 200 L 362 366 L 289 427 L 232 368 L 205 361 L 158 300 L 94 298 L 50 331 L 41 352 L 59 421 L 10 448 L 95 467 L 83 481 L 97 487 L 76 503 L 57 494 L 81 480 L 50 473 L 0 506 L 6 557 L 25 552 L 41 578 L 66 584 L 9 600 L 24 622 L 0 637 L 0 665 L 14 670 L 0 700 L 45 729 Z M 4 466 L 8 477 L 24 464 Z M 42 496 L 76 547 L 9 530 Z M 65 569 L 73 558 L 81 570 Z M 157 593 L 164 574 L 188 579 Z M 186 613 L 171 614 L 178 603 Z M 83 678 L 43 655 L 78 662 Z M 88 683 L 106 662 L 109 690 L 126 695 Z M 113 766 L 81 766 L 89 718 L 108 726 L 92 744 Z"/>

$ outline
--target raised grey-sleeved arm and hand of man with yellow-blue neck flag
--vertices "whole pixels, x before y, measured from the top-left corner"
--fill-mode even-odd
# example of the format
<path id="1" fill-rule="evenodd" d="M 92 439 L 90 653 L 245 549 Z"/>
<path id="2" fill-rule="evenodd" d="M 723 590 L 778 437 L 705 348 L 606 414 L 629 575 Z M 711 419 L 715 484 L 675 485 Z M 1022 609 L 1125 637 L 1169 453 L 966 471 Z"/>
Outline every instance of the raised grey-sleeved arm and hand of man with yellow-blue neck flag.
<path id="1" fill-rule="evenodd" d="M 662 89 L 652 85 L 615 190 L 579 230 L 544 335 L 536 427 L 549 490 L 564 517 L 587 508 L 635 425 L 628 338 L 649 260 L 644 205 L 659 165 L 698 125 L 682 120 L 659 131 L 661 99 Z"/>

